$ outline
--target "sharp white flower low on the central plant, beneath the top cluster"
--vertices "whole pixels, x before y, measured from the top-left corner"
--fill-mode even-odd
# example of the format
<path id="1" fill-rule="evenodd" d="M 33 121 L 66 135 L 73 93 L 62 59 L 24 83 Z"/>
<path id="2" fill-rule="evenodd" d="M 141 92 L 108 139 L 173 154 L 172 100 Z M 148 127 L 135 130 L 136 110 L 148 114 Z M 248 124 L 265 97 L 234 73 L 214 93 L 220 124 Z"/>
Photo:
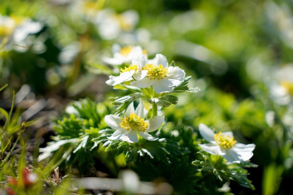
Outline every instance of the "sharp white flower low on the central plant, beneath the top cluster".
<path id="1" fill-rule="evenodd" d="M 120 139 L 133 143 L 138 141 L 138 133 L 141 137 L 149 141 L 157 140 L 158 138 L 151 136 L 147 132 L 157 130 L 163 124 L 164 117 L 158 115 L 145 120 L 147 113 L 147 110 L 140 101 L 135 110 L 132 102 L 125 111 L 125 116 L 122 118 L 113 114 L 106 115 L 106 124 L 116 130 L 108 139 L 113 141 Z"/>

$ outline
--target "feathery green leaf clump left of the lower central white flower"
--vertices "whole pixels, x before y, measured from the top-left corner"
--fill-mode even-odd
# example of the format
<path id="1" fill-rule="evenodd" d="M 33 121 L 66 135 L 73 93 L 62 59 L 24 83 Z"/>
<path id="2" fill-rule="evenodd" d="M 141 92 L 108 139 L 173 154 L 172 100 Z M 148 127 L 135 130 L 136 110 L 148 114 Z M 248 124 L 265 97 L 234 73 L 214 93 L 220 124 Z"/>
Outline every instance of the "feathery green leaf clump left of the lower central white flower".
<path id="1" fill-rule="evenodd" d="M 80 172 L 88 172 L 95 164 L 93 159 L 94 143 L 91 139 L 99 136 L 99 131 L 107 127 L 103 117 L 109 113 L 102 103 L 90 99 L 74 101 L 67 107 L 60 120 L 56 121 L 54 130 L 57 132 L 53 142 L 40 149 L 39 161 L 62 149 L 65 165 L 76 164 Z M 66 154 L 66 155 L 65 155 Z"/>

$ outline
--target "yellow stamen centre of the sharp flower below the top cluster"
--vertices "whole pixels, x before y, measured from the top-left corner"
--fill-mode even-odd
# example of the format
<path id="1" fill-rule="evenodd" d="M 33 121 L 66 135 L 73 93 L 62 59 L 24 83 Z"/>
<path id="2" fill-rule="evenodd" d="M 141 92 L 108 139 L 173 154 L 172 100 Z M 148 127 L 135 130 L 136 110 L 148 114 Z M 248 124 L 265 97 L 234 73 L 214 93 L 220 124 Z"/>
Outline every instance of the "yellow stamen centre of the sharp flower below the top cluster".
<path id="1" fill-rule="evenodd" d="M 122 122 L 119 124 L 120 127 L 124 128 L 125 130 L 129 131 L 142 131 L 144 132 L 149 124 L 144 121 L 143 118 L 137 116 L 134 113 L 131 113 L 130 116 L 126 116 L 125 118 L 121 118 Z"/>

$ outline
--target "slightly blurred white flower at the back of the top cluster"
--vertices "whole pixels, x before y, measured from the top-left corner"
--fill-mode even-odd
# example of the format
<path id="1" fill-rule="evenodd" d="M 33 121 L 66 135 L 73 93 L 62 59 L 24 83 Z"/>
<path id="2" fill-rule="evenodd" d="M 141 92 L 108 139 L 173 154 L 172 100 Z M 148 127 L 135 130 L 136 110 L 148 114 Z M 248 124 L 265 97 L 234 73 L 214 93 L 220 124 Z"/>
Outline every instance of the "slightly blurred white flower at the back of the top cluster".
<path id="1" fill-rule="evenodd" d="M 112 46 L 113 58 L 105 57 L 103 61 L 110 65 L 121 65 L 123 63 L 130 63 L 139 56 L 146 54 L 141 46 L 125 46 L 118 44 Z"/>

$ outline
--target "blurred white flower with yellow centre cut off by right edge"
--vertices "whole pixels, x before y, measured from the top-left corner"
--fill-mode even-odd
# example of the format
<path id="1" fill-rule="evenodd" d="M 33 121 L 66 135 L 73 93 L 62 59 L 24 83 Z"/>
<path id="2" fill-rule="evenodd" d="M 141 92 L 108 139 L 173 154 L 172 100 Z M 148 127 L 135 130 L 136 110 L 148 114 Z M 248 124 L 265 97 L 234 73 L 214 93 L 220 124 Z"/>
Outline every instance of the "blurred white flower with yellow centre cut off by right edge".
<path id="1" fill-rule="evenodd" d="M 270 84 L 270 95 L 277 104 L 287 105 L 293 100 L 293 65 L 280 68 L 275 77 L 276 82 Z"/>

